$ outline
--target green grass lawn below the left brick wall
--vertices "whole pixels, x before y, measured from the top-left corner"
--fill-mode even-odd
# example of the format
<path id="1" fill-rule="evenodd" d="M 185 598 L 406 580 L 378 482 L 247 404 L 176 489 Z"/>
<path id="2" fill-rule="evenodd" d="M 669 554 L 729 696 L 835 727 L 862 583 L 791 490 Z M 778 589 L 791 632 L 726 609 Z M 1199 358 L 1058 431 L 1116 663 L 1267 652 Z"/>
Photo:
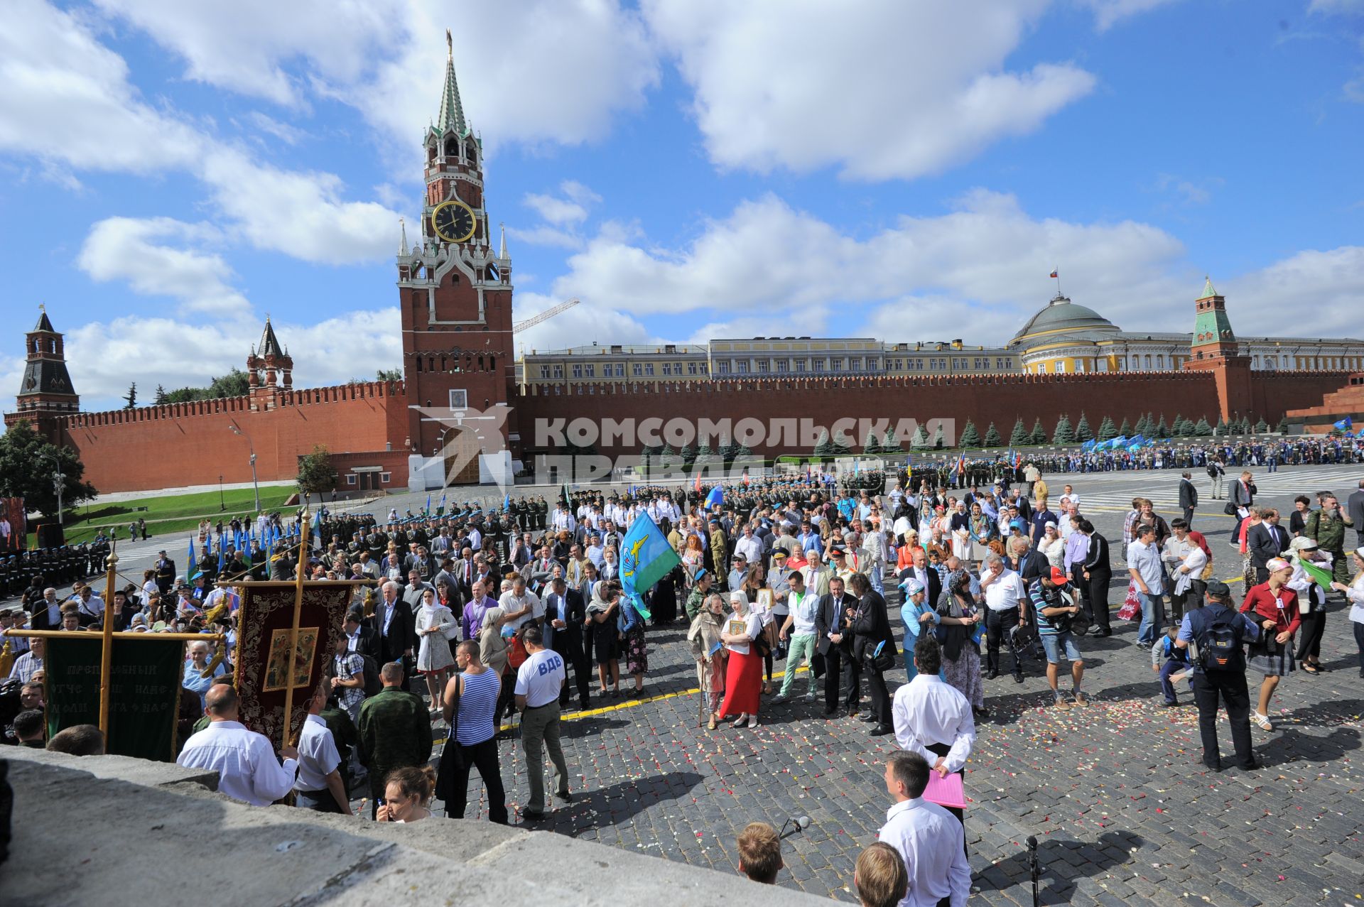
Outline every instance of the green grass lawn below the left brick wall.
<path id="1" fill-rule="evenodd" d="M 261 488 L 261 506 L 266 510 L 274 510 L 282 506 L 295 491 L 293 486 L 263 487 Z M 255 492 L 251 488 L 224 491 L 222 502 L 226 503 L 225 510 L 221 509 L 217 491 L 203 491 L 192 495 L 135 498 L 93 507 L 76 507 L 67 511 L 67 544 L 90 541 L 101 528 L 105 531 L 117 528 L 119 537 L 127 539 L 128 524 L 139 517 L 147 521 L 147 533 L 151 536 L 188 537 L 199 528 L 199 520 L 205 517 L 217 522 L 221 516 L 226 522 L 233 516 L 255 516 Z M 31 533 L 29 543 L 35 543 Z"/>

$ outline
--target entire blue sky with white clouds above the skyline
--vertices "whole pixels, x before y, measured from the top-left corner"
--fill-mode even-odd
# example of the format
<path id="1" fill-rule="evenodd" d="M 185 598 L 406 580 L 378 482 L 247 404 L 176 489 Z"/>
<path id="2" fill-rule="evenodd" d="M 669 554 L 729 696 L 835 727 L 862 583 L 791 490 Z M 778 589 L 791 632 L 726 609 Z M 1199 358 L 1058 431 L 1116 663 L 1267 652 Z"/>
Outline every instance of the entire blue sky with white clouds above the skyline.
<path id="1" fill-rule="evenodd" d="M 46 303 L 87 409 L 400 361 L 445 29 L 525 348 L 1003 342 L 1054 292 L 1361 336 L 1364 1 L 7 4 L 0 390 Z M 145 397 L 146 398 L 146 397 Z"/>

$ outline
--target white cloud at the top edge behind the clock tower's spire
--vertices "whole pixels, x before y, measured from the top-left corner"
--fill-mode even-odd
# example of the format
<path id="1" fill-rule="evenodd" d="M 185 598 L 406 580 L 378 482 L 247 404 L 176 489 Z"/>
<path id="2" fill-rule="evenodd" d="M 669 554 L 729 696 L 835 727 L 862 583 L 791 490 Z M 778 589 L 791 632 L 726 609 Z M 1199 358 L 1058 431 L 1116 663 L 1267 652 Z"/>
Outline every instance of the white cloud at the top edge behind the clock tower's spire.
<path id="1" fill-rule="evenodd" d="M 617 0 L 513 5 L 442 0 L 209 10 L 177 0 L 95 0 L 186 60 L 187 76 L 280 104 L 311 93 L 357 108 L 411 173 L 435 116 L 446 27 L 464 109 L 496 142 L 577 145 L 644 105 L 657 60 L 640 16 Z M 243 10 L 246 5 L 246 10 Z"/>

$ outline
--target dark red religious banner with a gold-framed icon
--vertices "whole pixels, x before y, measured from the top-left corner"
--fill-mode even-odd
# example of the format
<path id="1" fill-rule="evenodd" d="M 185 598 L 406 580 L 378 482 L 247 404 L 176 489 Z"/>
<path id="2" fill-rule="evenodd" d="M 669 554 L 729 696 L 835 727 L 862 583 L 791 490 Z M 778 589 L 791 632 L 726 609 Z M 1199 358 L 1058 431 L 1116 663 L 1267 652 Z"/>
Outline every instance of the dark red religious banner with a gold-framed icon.
<path id="1" fill-rule="evenodd" d="M 303 727 L 308 698 L 333 655 L 351 596 L 349 582 L 315 581 L 303 585 L 299 636 L 289 652 L 295 582 L 246 582 L 237 586 L 236 674 L 241 723 L 265 734 L 276 746 L 284 731 L 285 693 L 292 686 L 289 739 Z"/>

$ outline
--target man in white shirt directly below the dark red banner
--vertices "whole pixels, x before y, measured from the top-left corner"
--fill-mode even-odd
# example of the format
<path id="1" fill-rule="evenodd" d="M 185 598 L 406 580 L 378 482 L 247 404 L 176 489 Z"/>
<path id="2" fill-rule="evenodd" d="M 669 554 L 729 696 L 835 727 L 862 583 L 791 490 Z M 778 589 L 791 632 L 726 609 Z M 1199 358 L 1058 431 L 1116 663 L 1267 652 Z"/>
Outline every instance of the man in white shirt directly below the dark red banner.
<path id="1" fill-rule="evenodd" d="M 299 750 L 282 746 L 284 765 L 262 734 L 237 720 L 237 692 L 225 683 L 203 694 L 209 727 L 191 737 L 180 752 L 179 765 L 218 773 L 218 791 L 251 806 L 269 806 L 293 787 Z"/>

